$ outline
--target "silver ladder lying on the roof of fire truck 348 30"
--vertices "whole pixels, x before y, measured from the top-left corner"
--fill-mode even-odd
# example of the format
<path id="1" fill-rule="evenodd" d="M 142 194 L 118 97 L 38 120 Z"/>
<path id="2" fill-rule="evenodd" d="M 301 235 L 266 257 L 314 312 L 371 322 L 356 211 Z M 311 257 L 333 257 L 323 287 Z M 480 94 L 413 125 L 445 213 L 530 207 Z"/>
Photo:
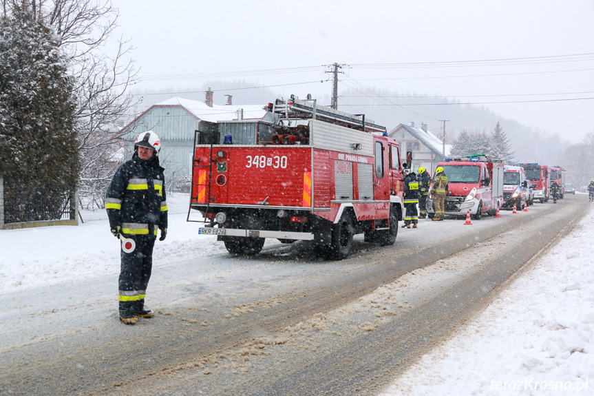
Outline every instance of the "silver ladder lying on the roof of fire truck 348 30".
<path id="1" fill-rule="evenodd" d="M 346 123 L 355 129 L 368 132 L 386 132 L 385 127 L 365 121 L 365 115 L 354 115 L 327 106 L 317 106 L 311 99 L 301 100 L 291 95 L 289 101 L 277 100 L 273 112 L 286 118 L 322 118 L 330 123 Z"/>

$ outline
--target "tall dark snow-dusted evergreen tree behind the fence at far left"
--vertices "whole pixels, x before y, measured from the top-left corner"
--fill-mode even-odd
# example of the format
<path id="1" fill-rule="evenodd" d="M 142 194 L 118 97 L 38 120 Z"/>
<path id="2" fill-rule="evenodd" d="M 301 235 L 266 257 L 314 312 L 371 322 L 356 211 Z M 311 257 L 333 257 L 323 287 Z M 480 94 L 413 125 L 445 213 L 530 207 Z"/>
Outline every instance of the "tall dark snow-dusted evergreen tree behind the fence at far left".
<path id="1" fill-rule="evenodd" d="M 76 101 L 59 40 L 27 0 L 0 19 L 0 175 L 12 209 L 6 222 L 60 218 L 76 190 Z"/>

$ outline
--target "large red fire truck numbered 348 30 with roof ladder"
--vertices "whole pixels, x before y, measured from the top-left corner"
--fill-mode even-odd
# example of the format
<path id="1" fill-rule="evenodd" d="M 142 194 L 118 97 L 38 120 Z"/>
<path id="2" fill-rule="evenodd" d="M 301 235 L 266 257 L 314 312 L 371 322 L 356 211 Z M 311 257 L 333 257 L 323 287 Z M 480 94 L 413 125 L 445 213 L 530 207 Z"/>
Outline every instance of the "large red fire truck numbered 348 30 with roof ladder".
<path id="1" fill-rule="evenodd" d="M 264 110 L 259 121 L 196 132 L 190 208 L 203 216 L 198 233 L 244 255 L 259 253 L 265 238 L 308 240 L 335 260 L 349 255 L 357 233 L 394 244 L 403 165 L 385 127 L 309 97 Z"/>

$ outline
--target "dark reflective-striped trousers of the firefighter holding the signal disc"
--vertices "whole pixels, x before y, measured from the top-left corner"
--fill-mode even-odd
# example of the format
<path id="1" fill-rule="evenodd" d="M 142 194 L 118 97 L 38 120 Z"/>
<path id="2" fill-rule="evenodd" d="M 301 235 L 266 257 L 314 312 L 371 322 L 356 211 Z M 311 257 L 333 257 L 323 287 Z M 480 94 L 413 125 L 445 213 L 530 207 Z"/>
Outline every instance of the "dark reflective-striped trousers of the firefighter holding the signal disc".
<path id="1" fill-rule="evenodd" d="M 153 247 L 156 236 L 126 235 L 126 238 L 133 239 L 136 242 L 136 248 L 130 253 L 123 250 L 120 252 L 122 264 L 118 282 L 118 301 L 120 316 L 123 317 L 140 313 L 144 308 L 153 267 Z"/>

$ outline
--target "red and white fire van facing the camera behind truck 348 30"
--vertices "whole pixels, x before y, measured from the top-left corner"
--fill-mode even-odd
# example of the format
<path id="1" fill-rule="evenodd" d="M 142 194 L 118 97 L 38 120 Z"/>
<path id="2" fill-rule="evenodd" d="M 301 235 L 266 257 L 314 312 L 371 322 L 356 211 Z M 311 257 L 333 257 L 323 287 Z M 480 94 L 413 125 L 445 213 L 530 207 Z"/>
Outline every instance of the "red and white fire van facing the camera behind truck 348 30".
<path id="1" fill-rule="evenodd" d="M 445 214 L 480 220 L 483 214 L 494 216 L 503 205 L 503 163 L 500 160 L 476 155 L 445 158 L 443 167 L 449 180 L 445 197 Z M 427 198 L 427 215 L 434 217 L 433 197 Z"/>

